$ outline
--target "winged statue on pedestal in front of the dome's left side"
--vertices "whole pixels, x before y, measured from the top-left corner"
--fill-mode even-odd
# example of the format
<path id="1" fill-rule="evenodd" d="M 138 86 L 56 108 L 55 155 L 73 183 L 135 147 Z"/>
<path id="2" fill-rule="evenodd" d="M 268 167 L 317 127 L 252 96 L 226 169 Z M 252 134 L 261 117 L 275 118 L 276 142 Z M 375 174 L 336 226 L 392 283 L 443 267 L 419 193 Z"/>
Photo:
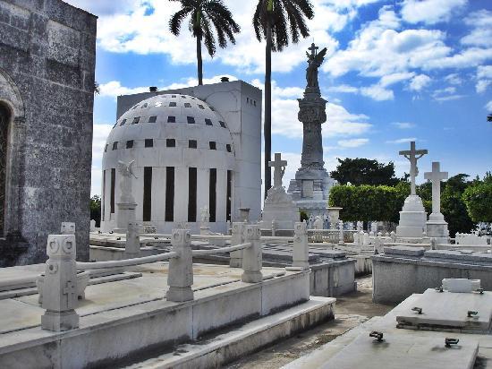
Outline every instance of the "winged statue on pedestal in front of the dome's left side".
<path id="1" fill-rule="evenodd" d="M 128 223 L 135 222 L 135 209 L 137 208 L 137 202 L 131 194 L 131 177 L 135 179 L 137 176 L 133 174 L 132 160 L 129 163 L 118 161 L 118 173 L 121 175 L 120 189 L 122 191 L 120 196 L 120 202 L 116 203 L 118 206 L 118 213 L 116 215 L 116 227 L 115 233 L 126 233 Z"/>

